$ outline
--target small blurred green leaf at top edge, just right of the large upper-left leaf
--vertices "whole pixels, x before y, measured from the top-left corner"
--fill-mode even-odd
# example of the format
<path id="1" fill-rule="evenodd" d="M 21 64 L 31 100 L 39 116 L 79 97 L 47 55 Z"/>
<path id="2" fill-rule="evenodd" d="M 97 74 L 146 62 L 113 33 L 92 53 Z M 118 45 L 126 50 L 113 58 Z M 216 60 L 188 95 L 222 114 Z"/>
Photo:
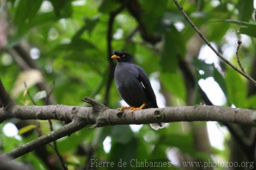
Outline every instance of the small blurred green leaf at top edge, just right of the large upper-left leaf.
<path id="1" fill-rule="evenodd" d="M 71 0 L 50 0 L 54 8 L 54 12 L 58 18 L 70 17 L 72 14 Z"/>

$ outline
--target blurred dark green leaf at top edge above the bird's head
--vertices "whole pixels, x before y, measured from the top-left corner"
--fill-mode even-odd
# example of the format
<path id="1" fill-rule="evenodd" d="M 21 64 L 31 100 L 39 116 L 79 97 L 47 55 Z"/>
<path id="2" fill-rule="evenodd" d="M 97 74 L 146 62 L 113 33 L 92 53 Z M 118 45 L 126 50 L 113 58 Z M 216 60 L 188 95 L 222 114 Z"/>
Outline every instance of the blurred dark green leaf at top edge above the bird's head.
<path id="1" fill-rule="evenodd" d="M 110 13 L 118 9 L 119 6 L 119 0 L 103 0 L 102 4 L 99 6 L 99 12 Z"/>

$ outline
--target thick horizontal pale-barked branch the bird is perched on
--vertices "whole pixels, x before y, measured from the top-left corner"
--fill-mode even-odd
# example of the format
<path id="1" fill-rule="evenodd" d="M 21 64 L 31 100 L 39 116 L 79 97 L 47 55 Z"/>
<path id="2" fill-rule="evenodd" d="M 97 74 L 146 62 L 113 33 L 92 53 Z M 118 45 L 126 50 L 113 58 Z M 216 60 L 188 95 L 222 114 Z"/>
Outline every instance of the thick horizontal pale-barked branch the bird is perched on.
<path id="1" fill-rule="evenodd" d="M 0 109 L 0 115 L 6 111 Z M 256 126 L 256 111 L 219 106 L 183 106 L 121 112 L 103 104 L 95 107 L 74 107 L 66 105 L 19 106 L 13 107 L 7 118 L 22 120 L 55 119 L 60 121 L 82 120 L 85 124 L 97 124 L 96 127 L 118 124 L 150 124 L 174 121 L 219 121 Z"/>

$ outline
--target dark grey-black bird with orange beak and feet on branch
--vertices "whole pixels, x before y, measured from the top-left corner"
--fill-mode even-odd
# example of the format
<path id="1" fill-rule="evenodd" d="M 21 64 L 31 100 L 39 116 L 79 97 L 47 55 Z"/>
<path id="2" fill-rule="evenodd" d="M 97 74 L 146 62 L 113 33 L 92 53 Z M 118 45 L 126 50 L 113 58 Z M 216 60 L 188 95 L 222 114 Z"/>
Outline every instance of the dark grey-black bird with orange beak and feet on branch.
<path id="1" fill-rule="evenodd" d="M 132 56 L 127 52 L 115 51 L 111 58 L 117 60 L 115 69 L 116 88 L 124 101 L 130 106 L 120 107 L 119 109 L 131 109 L 133 113 L 139 109 L 158 108 L 148 75 L 143 68 L 135 64 Z M 151 124 L 151 127 L 158 130 L 163 127 L 163 124 Z"/>

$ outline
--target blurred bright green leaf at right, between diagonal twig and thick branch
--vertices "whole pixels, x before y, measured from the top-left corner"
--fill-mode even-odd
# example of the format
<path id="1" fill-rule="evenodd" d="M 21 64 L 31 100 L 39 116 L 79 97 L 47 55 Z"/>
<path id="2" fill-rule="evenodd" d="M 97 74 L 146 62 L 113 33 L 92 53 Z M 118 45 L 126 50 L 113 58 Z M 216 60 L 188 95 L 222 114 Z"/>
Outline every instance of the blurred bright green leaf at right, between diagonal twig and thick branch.
<path id="1" fill-rule="evenodd" d="M 230 104 L 236 107 L 245 107 L 247 88 L 238 72 L 227 67 L 226 72 L 227 97 Z"/>

